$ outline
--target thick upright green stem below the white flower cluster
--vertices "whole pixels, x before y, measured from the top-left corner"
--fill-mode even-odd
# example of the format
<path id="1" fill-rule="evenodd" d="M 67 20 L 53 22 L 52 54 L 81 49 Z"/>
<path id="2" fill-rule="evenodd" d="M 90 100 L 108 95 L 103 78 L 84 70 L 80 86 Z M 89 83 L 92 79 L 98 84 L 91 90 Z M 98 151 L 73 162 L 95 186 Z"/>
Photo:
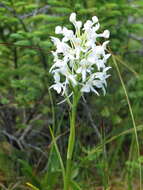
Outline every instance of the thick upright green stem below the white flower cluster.
<path id="1" fill-rule="evenodd" d="M 70 135 L 69 135 L 69 140 L 68 140 L 64 190 L 70 190 L 72 155 L 73 155 L 74 144 L 75 144 L 75 120 L 76 120 L 78 100 L 79 100 L 78 92 L 77 93 L 75 92 L 73 94 L 73 104 L 72 104 L 72 111 L 71 111 L 71 116 L 70 116 Z"/>

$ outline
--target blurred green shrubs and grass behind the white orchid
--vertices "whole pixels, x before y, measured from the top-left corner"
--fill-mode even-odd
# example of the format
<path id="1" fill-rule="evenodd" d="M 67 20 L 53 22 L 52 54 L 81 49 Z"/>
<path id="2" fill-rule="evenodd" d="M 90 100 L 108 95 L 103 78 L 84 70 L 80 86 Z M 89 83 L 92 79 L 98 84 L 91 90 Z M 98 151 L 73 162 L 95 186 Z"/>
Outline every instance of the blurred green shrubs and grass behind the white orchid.
<path id="1" fill-rule="evenodd" d="M 101 30 L 111 31 L 113 52 L 107 95 L 87 94 L 86 102 L 80 102 L 72 177 L 83 190 L 135 190 L 141 182 L 143 1 L 1 0 L 2 190 L 26 190 L 26 182 L 40 190 L 60 189 L 62 185 L 49 126 L 54 129 L 64 158 L 69 118 L 67 105 L 57 105 L 61 97 L 49 91 L 54 48 L 50 36 L 55 35 L 57 25 L 72 27 L 68 21 L 71 12 L 76 12 L 82 21 L 98 16 Z"/>

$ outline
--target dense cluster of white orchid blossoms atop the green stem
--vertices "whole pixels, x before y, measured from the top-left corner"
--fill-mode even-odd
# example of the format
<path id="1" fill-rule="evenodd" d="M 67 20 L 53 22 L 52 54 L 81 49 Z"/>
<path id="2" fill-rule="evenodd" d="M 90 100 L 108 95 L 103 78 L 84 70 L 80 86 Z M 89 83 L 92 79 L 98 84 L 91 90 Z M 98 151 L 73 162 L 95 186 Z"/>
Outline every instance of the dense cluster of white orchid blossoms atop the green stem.
<path id="1" fill-rule="evenodd" d="M 56 51 L 52 52 L 54 64 L 50 69 L 55 83 L 51 88 L 62 95 L 69 94 L 75 87 L 81 93 L 93 91 L 99 95 L 98 89 L 102 89 L 105 94 L 106 79 L 110 76 L 107 70 L 111 68 L 106 66 L 110 57 L 110 54 L 106 54 L 109 41 L 101 45 L 97 39 L 109 38 L 110 32 L 105 30 L 97 34 L 100 24 L 96 16 L 87 20 L 84 25 L 76 20 L 75 13 L 70 15 L 69 20 L 75 27 L 74 32 L 57 26 L 55 33 L 62 34 L 62 40 L 51 37 L 56 46 Z"/>

